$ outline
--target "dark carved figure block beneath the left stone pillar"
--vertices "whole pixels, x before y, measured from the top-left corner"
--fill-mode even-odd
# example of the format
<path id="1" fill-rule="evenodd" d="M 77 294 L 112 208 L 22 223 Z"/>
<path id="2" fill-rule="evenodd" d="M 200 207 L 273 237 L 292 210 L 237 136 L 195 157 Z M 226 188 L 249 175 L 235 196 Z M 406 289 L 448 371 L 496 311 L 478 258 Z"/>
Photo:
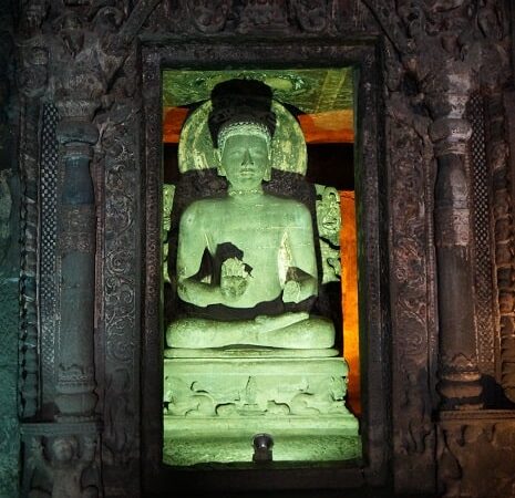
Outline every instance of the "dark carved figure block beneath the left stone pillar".
<path id="1" fill-rule="evenodd" d="M 21 496 L 96 498 L 101 495 L 96 422 L 21 426 Z"/>

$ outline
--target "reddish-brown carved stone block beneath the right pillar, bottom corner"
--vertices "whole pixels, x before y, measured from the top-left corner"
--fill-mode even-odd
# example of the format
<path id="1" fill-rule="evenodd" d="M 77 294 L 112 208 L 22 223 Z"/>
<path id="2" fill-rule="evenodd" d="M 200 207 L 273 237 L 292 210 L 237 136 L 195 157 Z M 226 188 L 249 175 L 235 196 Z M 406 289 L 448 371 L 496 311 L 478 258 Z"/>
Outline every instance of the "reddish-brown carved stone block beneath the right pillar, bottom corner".
<path id="1" fill-rule="evenodd" d="M 515 496 L 515 411 L 442 412 L 437 426 L 444 497 Z"/>

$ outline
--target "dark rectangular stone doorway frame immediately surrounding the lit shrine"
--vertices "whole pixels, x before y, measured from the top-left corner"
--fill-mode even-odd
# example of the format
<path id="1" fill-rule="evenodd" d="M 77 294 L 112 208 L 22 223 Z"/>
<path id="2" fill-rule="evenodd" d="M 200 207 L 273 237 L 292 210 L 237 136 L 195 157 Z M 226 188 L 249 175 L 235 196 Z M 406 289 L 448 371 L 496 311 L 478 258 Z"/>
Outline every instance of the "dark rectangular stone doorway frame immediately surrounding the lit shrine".
<path id="1" fill-rule="evenodd" d="M 388 291 L 388 172 L 384 167 L 384 122 L 380 118 L 381 72 L 374 41 L 311 40 L 297 50 L 295 41 L 245 43 L 214 41 L 165 46 L 142 46 L 145 167 L 142 214 L 143 230 L 143 345 L 142 345 L 142 478 L 147 492 L 183 483 L 189 489 L 312 488 L 322 480 L 333 488 L 356 487 L 367 481 L 384 485 L 391 444 L 389 406 L 391 334 Z M 274 465 L 259 469 L 220 467 L 216 470 L 175 470 L 162 460 L 163 332 L 161 322 L 161 185 L 163 69 L 320 68 L 354 66 L 358 129 L 354 157 L 359 226 L 360 342 L 362 369 L 361 433 L 363 461 L 315 466 Z M 143 227 L 142 227 L 143 228 Z M 152 418 L 152 419 L 151 419 Z M 307 468 L 309 467 L 309 470 Z M 284 471 L 287 468 L 287 471 Z M 230 485 L 228 484 L 230 481 Z"/>

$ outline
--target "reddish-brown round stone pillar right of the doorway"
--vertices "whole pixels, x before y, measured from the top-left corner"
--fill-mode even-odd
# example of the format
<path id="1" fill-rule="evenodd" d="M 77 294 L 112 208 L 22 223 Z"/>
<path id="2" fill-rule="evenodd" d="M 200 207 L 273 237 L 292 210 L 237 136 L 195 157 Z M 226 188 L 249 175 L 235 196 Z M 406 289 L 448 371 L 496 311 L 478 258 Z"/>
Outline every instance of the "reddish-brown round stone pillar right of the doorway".
<path id="1" fill-rule="evenodd" d="M 470 70 L 453 61 L 428 98 L 434 122 L 431 138 L 437 159 L 435 243 L 440 321 L 439 393 L 444 409 L 482 406 L 474 323 L 471 178 L 464 120 L 472 86 Z"/>

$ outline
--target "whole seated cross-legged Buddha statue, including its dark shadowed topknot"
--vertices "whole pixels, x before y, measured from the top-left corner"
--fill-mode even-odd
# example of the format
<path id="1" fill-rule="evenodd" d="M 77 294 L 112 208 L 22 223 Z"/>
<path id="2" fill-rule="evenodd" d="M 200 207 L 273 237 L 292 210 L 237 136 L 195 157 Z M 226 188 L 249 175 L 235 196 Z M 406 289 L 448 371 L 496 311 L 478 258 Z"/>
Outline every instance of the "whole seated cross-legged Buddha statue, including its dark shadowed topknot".
<path id="1" fill-rule="evenodd" d="M 274 166 L 271 91 L 233 81 L 215 87 L 212 102 L 227 191 L 181 216 L 176 281 L 187 312 L 168 325 L 167 344 L 331 347 L 332 322 L 310 312 L 319 282 L 311 212 L 264 189 Z"/>

